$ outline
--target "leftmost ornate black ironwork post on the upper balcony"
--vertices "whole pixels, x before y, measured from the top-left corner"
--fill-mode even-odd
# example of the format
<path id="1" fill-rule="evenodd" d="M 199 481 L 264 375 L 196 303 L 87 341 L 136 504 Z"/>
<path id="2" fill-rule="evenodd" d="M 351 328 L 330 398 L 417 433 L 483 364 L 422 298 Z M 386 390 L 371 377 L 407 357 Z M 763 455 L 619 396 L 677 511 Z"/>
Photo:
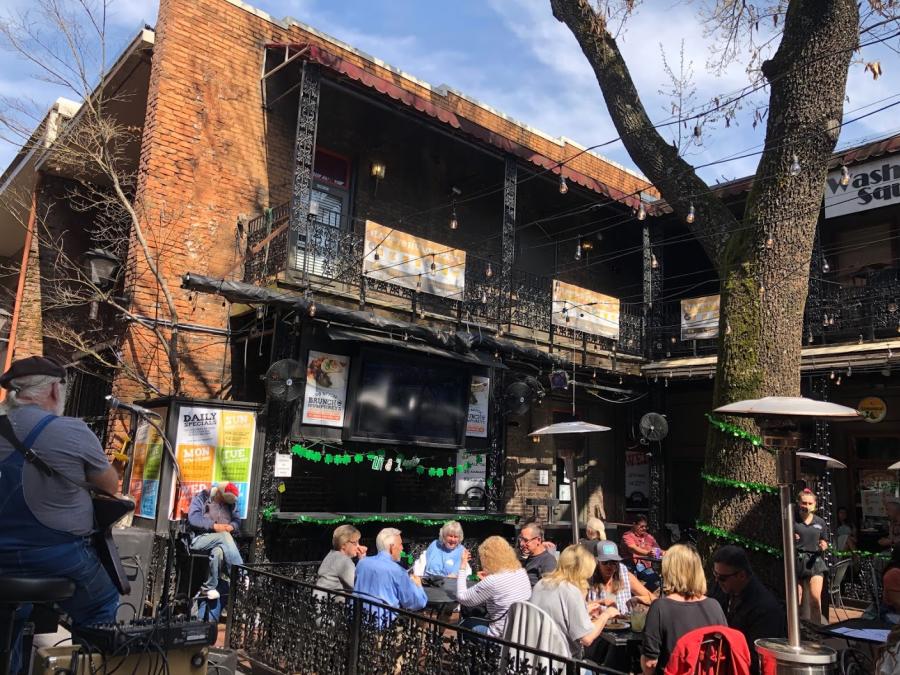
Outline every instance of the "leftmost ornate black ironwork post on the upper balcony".
<path id="1" fill-rule="evenodd" d="M 294 138 L 294 182 L 291 189 L 290 255 L 298 267 L 298 242 L 306 236 L 309 203 L 312 195 L 313 165 L 316 155 L 316 132 L 319 124 L 319 67 L 303 64 L 300 97 L 297 105 L 297 134 Z M 306 256 L 308 258 L 308 255 Z M 303 261 L 299 261 L 301 264 Z M 304 269 L 304 276 L 306 270 Z"/>

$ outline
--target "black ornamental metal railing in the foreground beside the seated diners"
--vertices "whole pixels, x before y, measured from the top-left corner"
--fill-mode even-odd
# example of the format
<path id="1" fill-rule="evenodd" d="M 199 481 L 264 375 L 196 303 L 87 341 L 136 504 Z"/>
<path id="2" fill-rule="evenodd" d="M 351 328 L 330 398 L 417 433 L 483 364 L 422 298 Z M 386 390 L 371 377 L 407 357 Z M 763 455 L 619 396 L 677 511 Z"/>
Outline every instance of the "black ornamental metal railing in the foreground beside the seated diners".
<path id="1" fill-rule="evenodd" d="M 228 647 L 278 673 L 615 673 L 422 614 L 317 588 L 290 564 L 233 568 Z"/>

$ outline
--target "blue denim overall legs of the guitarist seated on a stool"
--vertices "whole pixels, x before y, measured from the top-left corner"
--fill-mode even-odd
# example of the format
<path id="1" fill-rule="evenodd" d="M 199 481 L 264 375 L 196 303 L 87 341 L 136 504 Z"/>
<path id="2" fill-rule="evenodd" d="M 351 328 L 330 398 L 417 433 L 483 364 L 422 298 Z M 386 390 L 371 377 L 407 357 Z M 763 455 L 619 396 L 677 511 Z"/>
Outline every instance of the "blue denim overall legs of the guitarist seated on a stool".
<path id="1" fill-rule="evenodd" d="M 74 626 L 89 626 L 116 620 L 119 591 L 100 564 L 93 547 L 79 539 L 67 544 L 19 551 L 0 551 L 0 575 L 30 578 L 65 577 L 75 582 L 75 594 L 57 605 L 69 615 Z M 16 612 L 10 672 L 22 667 L 22 628 L 31 614 L 31 605 Z"/>

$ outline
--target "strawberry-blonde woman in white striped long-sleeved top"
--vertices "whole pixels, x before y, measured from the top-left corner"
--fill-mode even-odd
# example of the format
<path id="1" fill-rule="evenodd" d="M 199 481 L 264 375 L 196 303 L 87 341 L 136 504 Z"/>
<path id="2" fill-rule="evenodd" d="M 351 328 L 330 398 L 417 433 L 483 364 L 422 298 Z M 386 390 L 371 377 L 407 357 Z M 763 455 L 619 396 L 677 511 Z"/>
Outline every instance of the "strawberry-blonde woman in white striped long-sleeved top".
<path id="1" fill-rule="evenodd" d="M 465 619 L 462 626 L 479 633 L 502 637 L 506 627 L 506 613 L 514 602 L 531 597 L 531 582 L 522 568 L 519 557 L 503 537 L 488 537 L 478 547 L 481 560 L 481 581 L 466 587 L 465 569 L 469 566 L 469 551 L 463 549 L 460 569 L 456 576 L 456 598 L 463 607 L 484 605 L 487 621 Z"/>

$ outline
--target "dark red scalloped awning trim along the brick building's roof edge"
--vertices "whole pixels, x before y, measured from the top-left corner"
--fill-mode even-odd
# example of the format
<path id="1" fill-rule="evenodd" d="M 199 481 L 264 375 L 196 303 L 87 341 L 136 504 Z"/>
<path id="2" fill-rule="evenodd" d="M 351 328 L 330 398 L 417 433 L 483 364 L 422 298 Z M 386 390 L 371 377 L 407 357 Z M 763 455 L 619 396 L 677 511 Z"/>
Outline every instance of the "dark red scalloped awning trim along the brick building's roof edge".
<path id="1" fill-rule="evenodd" d="M 284 47 L 285 45 L 267 45 L 270 47 L 280 46 Z M 453 127 L 454 129 L 458 129 L 459 131 L 477 138 L 481 141 L 484 141 L 495 148 L 500 149 L 505 153 L 509 153 L 520 159 L 523 159 L 531 164 L 541 167 L 542 169 L 548 169 L 553 173 L 559 173 L 559 160 L 554 160 L 550 157 L 542 155 L 541 153 L 528 148 L 521 143 L 518 143 L 502 134 L 499 134 L 491 129 L 488 129 L 470 119 L 462 117 L 456 114 L 454 111 L 434 103 L 433 101 L 429 101 L 427 98 L 420 96 L 418 94 L 414 94 L 413 92 L 404 89 L 399 84 L 391 82 L 390 80 L 382 77 L 380 75 L 376 75 L 375 73 L 366 70 L 364 67 L 353 63 L 352 61 L 345 59 L 337 54 L 334 54 L 327 49 L 319 45 L 297 45 L 297 47 L 307 47 L 309 51 L 303 55 L 303 58 L 308 59 L 309 61 L 313 61 L 318 63 L 334 72 L 340 73 L 346 77 L 349 77 L 351 80 L 359 82 L 371 89 L 374 89 L 380 94 L 390 97 L 395 101 L 399 101 L 410 108 L 418 110 L 421 113 L 428 115 L 429 117 L 433 117 L 444 124 Z M 400 76 L 395 76 L 400 77 Z M 442 96 L 442 95 L 440 95 Z M 452 96 L 452 93 L 447 96 Z M 618 170 L 618 169 L 617 169 Z M 618 188 L 614 188 L 610 185 L 602 183 L 599 180 L 591 178 L 580 171 L 576 171 L 570 166 L 565 166 L 562 168 L 562 173 L 566 177 L 567 180 L 570 180 L 574 183 L 581 185 L 589 190 L 597 192 L 599 194 L 605 195 L 610 199 L 630 206 L 633 209 L 638 207 L 638 198 L 636 195 L 632 195 L 626 193 Z M 637 180 L 637 179 L 636 179 Z"/>

